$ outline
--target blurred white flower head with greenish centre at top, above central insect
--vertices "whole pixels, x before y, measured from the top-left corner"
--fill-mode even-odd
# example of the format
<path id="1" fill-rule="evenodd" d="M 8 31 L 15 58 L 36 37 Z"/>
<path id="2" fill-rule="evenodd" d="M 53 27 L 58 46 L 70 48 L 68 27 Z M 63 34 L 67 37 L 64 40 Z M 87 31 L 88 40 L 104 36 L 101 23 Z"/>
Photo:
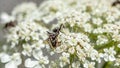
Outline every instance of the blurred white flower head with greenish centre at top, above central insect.
<path id="1" fill-rule="evenodd" d="M 66 4 L 61 0 L 45 1 L 39 7 L 40 12 L 42 13 L 41 18 L 47 24 L 56 19 L 64 9 L 66 9 Z"/>

